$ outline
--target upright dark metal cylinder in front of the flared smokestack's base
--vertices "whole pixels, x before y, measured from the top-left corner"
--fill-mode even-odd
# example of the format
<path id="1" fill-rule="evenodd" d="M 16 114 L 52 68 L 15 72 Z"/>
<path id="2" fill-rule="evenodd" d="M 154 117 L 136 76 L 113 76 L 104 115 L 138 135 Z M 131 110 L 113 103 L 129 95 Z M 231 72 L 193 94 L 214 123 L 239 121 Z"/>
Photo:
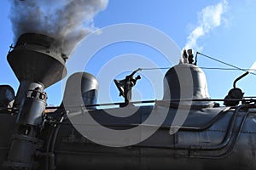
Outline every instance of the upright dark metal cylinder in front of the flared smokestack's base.
<path id="1" fill-rule="evenodd" d="M 46 94 L 38 88 L 26 95 L 16 120 L 18 129 L 12 136 L 4 167 L 32 169 L 34 155 L 42 149 L 40 144 L 43 141 L 38 139 L 38 132 L 43 122 L 46 99 Z"/>

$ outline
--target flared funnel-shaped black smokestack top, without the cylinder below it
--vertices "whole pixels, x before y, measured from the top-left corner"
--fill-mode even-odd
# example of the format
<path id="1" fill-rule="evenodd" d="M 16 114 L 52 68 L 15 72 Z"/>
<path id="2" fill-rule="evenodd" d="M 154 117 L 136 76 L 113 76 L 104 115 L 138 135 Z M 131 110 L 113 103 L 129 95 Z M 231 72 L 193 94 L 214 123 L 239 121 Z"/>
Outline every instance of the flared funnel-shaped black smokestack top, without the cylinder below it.
<path id="1" fill-rule="evenodd" d="M 27 90 L 44 90 L 67 74 L 67 57 L 61 53 L 59 42 L 42 34 L 22 34 L 7 59 L 20 81 L 14 103 L 16 107 L 25 99 Z"/>

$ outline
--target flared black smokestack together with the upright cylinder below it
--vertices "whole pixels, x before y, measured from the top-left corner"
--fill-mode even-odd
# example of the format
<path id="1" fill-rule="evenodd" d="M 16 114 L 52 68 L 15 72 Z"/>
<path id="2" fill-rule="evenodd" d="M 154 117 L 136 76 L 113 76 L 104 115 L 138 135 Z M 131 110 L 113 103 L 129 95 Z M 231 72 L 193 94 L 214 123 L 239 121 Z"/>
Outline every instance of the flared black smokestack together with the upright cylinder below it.
<path id="1" fill-rule="evenodd" d="M 47 99 L 44 88 L 66 76 L 63 56 L 55 39 L 35 33 L 21 35 L 9 52 L 9 65 L 20 81 L 14 106 L 20 109 L 4 167 L 32 169 L 34 156 L 42 149 L 38 135 Z"/>

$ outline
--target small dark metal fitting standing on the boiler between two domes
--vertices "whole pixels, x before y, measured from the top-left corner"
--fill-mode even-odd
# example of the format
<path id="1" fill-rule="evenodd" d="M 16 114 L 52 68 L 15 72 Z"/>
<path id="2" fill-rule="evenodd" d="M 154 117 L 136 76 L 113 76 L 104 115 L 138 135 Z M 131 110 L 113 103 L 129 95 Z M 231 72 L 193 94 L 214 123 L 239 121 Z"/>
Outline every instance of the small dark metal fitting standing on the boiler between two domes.
<path id="1" fill-rule="evenodd" d="M 126 76 L 124 80 L 113 80 L 119 89 L 119 96 L 123 96 L 125 98 L 125 105 L 128 105 L 131 102 L 131 89 L 135 86 L 137 80 L 141 79 L 139 75 L 137 77 L 133 77 L 137 71 L 140 71 L 140 69 L 133 71 L 131 75 Z"/>

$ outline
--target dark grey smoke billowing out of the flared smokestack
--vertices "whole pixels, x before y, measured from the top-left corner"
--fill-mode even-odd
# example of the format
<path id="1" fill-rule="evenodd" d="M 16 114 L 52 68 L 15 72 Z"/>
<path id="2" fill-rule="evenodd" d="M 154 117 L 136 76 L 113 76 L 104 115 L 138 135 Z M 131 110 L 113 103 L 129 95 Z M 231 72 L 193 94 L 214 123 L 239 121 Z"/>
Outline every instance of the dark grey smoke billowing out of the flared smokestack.
<path id="1" fill-rule="evenodd" d="M 35 32 L 54 37 L 62 53 L 73 48 L 96 28 L 93 17 L 108 5 L 108 0 L 13 0 L 10 20 L 15 42 L 21 34 Z"/>

